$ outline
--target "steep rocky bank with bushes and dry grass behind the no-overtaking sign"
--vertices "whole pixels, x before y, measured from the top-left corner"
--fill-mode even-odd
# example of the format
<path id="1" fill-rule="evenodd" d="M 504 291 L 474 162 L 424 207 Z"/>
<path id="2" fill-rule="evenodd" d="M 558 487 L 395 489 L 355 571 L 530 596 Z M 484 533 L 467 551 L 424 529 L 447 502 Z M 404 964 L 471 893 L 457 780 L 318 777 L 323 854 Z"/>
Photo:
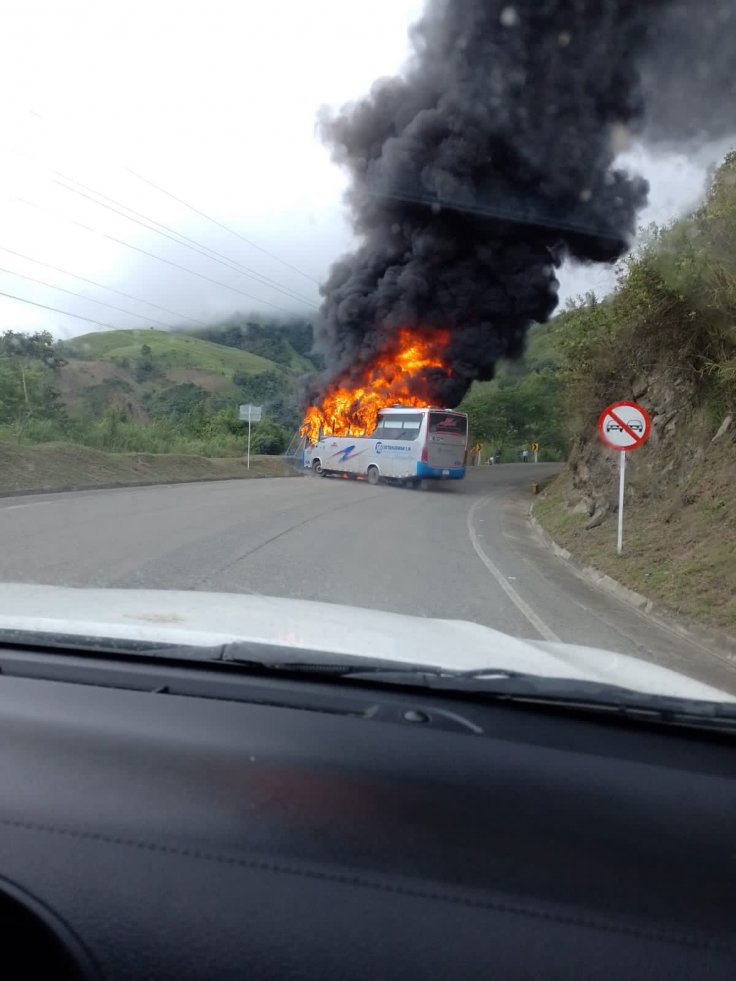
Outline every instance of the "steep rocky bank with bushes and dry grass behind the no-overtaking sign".
<path id="1" fill-rule="evenodd" d="M 668 608 L 736 629 L 736 152 L 693 214 L 651 227 L 615 292 L 550 325 L 570 440 L 535 513 L 559 544 Z M 596 436 L 610 402 L 639 401 L 624 555 L 614 549 L 617 455 Z"/>

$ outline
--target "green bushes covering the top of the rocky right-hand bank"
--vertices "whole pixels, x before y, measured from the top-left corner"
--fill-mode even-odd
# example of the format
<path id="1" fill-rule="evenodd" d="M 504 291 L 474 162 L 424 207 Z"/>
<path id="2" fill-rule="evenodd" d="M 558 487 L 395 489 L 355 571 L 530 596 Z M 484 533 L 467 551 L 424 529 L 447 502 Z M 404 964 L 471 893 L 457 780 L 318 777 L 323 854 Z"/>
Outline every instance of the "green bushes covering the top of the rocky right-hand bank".
<path id="1" fill-rule="evenodd" d="M 736 405 L 736 152 L 703 205 L 659 228 L 621 265 L 605 300 L 589 295 L 555 319 L 573 439 L 600 408 L 652 372 L 669 374 L 718 426 Z M 688 409 L 684 400 L 677 411 Z"/>

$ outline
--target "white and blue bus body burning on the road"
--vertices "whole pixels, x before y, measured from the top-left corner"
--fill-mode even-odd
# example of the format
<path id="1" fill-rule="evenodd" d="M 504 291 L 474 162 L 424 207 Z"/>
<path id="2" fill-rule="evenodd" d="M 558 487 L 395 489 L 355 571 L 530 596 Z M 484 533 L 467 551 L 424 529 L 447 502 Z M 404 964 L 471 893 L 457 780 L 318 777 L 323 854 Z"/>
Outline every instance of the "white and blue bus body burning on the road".
<path id="1" fill-rule="evenodd" d="M 378 413 L 370 436 L 320 433 L 304 453 L 304 466 L 322 476 L 349 474 L 418 487 L 423 480 L 465 476 L 468 417 L 450 409 L 393 406 Z"/>

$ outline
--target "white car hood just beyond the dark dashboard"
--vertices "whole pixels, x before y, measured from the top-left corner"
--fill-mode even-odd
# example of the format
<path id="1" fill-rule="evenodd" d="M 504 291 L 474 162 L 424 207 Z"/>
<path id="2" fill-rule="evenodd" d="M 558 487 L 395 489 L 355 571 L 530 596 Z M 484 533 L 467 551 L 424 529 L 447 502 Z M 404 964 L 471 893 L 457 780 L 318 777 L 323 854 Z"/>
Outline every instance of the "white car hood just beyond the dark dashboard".
<path id="1" fill-rule="evenodd" d="M 8 630 L 192 646 L 253 642 L 340 661 L 380 658 L 460 671 L 504 668 L 650 694 L 736 701 L 677 672 L 611 651 L 521 640 L 465 620 L 270 596 L 0 583 L 0 639 Z"/>

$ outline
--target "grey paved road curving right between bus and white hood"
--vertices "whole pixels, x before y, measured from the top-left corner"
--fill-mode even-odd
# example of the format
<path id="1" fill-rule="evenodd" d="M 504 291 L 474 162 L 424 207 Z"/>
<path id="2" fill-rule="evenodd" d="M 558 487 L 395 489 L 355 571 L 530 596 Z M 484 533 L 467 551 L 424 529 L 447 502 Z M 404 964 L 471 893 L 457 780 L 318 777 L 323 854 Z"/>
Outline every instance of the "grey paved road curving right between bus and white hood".
<path id="1" fill-rule="evenodd" d="M 427 491 L 223 481 L 0 500 L 0 580 L 262 593 L 474 620 L 668 664 L 736 672 L 585 582 L 528 520 L 550 465 L 470 471 Z"/>

